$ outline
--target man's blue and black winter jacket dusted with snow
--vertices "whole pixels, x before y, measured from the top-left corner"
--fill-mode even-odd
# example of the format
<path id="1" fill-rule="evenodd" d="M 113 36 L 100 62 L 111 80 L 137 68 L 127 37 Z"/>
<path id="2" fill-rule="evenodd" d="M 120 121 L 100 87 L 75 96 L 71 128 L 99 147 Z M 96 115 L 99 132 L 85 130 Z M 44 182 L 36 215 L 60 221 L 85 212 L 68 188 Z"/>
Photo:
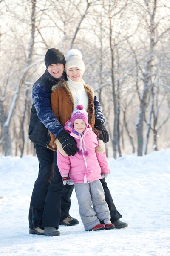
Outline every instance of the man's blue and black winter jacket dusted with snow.
<path id="1" fill-rule="evenodd" d="M 33 85 L 33 105 L 30 115 L 29 139 L 33 143 L 44 147 L 46 147 L 51 140 L 48 130 L 54 134 L 55 137 L 63 131 L 62 125 L 51 109 L 51 89 L 53 85 L 57 84 L 61 79 L 66 80 L 65 73 L 62 78 L 55 79 L 50 75 L 48 70 L 45 70 L 45 73 Z M 94 110 L 95 122 L 104 123 L 105 119 L 96 96 L 94 96 Z"/>

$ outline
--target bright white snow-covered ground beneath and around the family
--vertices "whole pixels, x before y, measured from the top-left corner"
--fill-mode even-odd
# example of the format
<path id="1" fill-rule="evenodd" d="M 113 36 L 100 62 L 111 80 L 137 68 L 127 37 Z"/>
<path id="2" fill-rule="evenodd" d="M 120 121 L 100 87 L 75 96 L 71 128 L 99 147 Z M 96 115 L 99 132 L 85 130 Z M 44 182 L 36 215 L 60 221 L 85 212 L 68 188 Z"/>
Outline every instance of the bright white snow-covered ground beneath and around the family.
<path id="1" fill-rule="evenodd" d="M 0 256 L 169 256 L 170 148 L 144 157 L 109 159 L 107 178 L 125 229 L 85 232 L 75 192 L 74 227 L 59 226 L 60 236 L 30 235 L 28 208 L 38 173 L 36 157 L 0 158 Z"/>

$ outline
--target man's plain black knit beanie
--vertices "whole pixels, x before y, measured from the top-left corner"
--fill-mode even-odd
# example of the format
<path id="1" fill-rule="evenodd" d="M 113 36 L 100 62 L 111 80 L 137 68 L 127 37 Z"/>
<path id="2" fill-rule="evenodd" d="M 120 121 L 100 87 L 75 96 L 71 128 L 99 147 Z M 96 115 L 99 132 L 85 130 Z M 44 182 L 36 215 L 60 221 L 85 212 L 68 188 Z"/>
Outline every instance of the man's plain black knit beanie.
<path id="1" fill-rule="evenodd" d="M 48 51 L 45 54 L 44 61 L 46 68 L 48 68 L 49 65 L 56 63 L 61 63 L 65 65 L 64 55 L 56 48 L 48 49 Z"/>

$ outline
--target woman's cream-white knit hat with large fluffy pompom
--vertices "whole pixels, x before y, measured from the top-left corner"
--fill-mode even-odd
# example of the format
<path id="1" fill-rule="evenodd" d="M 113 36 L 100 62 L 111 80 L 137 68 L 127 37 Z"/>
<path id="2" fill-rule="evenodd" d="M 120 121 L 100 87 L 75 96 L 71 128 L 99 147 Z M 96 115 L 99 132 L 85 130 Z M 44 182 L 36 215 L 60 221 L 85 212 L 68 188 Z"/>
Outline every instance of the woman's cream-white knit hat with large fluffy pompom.
<path id="1" fill-rule="evenodd" d="M 68 70 L 71 67 L 78 67 L 82 70 L 82 74 L 85 72 L 85 64 L 82 60 L 82 54 L 77 49 L 71 49 L 67 54 L 67 61 L 65 63 L 65 72 L 68 76 Z"/>

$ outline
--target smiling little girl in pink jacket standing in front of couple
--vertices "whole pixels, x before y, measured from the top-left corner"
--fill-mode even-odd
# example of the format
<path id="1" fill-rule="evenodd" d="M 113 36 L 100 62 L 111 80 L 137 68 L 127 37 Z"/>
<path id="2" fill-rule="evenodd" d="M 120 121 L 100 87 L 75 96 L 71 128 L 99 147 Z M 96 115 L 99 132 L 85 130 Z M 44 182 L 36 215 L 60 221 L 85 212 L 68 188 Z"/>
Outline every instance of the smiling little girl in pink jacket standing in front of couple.
<path id="1" fill-rule="evenodd" d="M 71 114 L 65 123 L 65 131 L 77 141 L 79 151 L 74 156 L 66 156 L 59 140 L 57 143 L 57 164 L 65 185 L 69 178 L 74 183 L 79 213 L 85 230 L 113 229 L 111 215 L 105 201 L 104 190 L 99 179 L 110 173 L 105 145 L 97 140 L 96 134 L 88 124 L 88 113 L 82 105 Z M 91 204 L 93 203 L 93 207 Z M 100 224 L 100 222 L 104 224 Z"/>

